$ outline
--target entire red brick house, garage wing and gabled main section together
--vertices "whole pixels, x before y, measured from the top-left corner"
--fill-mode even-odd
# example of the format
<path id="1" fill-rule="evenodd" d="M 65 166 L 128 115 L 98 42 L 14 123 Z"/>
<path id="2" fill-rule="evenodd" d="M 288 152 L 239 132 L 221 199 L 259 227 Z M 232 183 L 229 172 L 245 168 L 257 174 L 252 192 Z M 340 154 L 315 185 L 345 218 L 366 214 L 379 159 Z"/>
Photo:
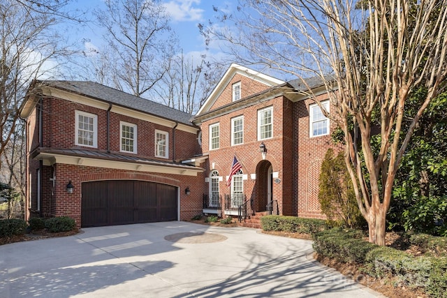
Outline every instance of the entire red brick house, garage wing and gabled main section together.
<path id="1" fill-rule="evenodd" d="M 329 108 L 321 82 L 306 83 Z M 78 227 L 266 210 L 322 218 L 318 174 L 335 124 L 300 90 L 299 80 L 232 64 L 192 118 L 94 82 L 35 82 L 21 114 L 27 218 L 71 216 Z"/>

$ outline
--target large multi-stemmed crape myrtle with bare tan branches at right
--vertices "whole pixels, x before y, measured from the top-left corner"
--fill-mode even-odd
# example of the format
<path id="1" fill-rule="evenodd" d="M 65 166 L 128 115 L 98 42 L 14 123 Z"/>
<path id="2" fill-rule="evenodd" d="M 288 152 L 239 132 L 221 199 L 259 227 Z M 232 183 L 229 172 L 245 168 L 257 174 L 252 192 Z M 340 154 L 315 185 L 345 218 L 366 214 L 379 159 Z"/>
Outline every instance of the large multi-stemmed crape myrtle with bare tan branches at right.
<path id="1" fill-rule="evenodd" d="M 316 103 L 344 133 L 369 241 L 385 245 L 397 170 L 420 117 L 446 89 L 447 0 L 246 0 L 219 21 L 203 25 L 203 34 L 226 40 L 241 63 L 321 78 L 330 111 Z M 402 126 L 407 100 L 421 88 L 425 95 Z M 310 89 L 302 94 L 316 99 Z"/>

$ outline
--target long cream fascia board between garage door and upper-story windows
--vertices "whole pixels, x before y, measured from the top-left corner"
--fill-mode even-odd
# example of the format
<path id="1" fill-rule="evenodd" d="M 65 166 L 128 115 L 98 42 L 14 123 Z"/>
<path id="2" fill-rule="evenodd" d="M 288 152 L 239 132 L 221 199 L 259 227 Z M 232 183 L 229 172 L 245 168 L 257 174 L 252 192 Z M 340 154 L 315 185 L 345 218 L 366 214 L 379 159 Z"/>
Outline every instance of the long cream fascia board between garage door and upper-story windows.
<path id="1" fill-rule="evenodd" d="M 152 172 L 161 174 L 178 174 L 184 176 L 197 176 L 203 169 L 189 169 L 187 167 L 170 167 L 167 165 L 145 165 L 142 163 L 125 163 L 122 161 L 110 161 L 96 158 L 80 158 L 79 156 L 66 156 L 61 154 L 38 154 L 35 159 L 41 159 L 43 165 L 54 165 L 55 163 L 62 163 L 66 165 L 80 165 L 82 159 L 82 166 L 86 167 L 103 167 L 116 170 L 129 170 L 135 172 Z"/>

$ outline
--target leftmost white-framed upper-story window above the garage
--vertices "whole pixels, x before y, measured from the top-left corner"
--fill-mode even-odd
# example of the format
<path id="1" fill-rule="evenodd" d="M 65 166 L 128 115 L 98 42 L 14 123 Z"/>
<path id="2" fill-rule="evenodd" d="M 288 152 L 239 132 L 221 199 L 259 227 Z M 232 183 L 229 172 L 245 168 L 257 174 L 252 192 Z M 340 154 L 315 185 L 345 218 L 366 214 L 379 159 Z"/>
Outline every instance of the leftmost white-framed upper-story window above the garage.
<path id="1" fill-rule="evenodd" d="M 98 147 L 98 116 L 87 112 L 75 112 L 75 144 Z"/>

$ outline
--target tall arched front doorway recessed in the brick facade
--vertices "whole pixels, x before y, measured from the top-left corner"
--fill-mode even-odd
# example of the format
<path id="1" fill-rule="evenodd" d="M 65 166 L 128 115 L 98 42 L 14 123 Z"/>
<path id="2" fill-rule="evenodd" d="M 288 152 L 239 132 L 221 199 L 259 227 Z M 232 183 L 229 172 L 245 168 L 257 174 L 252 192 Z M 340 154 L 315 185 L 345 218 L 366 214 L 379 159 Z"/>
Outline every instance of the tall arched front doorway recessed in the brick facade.
<path id="1" fill-rule="evenodd" d="M 256 193 L 254 202 L 255 211 L 266 211 L 267 205 L 273 198 L 272 163 L 260 161 L 256 166 Z"/>

